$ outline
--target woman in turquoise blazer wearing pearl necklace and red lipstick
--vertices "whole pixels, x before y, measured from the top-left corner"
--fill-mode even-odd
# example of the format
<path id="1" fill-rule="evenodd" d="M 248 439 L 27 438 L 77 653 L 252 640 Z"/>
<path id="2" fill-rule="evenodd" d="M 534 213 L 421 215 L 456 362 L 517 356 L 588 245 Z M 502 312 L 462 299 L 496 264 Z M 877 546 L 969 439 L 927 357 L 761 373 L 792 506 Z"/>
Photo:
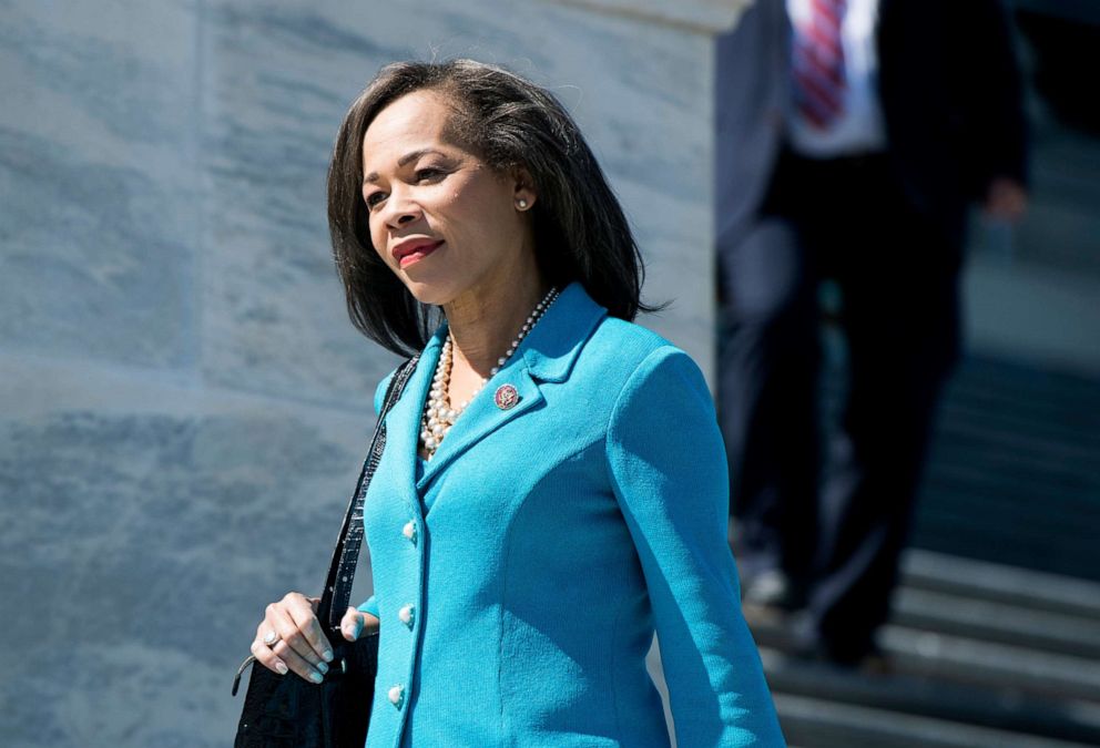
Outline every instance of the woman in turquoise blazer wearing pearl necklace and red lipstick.
<path id="1" fill-rule="evenodd" d="M 385 68 L 329 226 L 355 325 L 421 351 L 366 500 L 376 595 L 343 619 L 380 632 L 367 745 L 668 746 L 655 628 L 680 746 L 782 746 L 710 395 L 629 321 L 638 249 L 561 105 L 477 62 Z M 263 665 L 324 678 L 314 605 L 268 606 Z"/>

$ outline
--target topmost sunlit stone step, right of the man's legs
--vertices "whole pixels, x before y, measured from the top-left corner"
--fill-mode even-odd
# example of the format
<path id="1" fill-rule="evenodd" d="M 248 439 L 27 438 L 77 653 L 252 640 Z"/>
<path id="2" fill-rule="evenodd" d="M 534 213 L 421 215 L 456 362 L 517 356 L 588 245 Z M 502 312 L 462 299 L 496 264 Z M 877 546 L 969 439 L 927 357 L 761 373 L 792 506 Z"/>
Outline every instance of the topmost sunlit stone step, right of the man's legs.
<path id="1" fill-rule="evenodd" d="M 1100 625 L 1100 583 L 1086 580 L 910 550 L 903 560 L 903 583 L 917 590 L 1079 616 Z"/>

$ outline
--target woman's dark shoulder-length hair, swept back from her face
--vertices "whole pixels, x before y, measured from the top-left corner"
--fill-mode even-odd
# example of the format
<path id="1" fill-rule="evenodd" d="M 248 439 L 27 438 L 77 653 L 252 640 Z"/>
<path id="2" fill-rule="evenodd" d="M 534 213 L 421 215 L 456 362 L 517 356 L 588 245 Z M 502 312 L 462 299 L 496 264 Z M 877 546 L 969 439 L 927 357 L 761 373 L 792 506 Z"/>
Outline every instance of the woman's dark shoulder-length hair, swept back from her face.
<path id="1" fill-rule="evenodd" d="M 627 217 L 577 123 L 548 91 L 472 60 L 397 62 L 355 100 L 336 135 L 328 168 L 328 229 L 352 324 L 389 350 L 420 350 L 432 315 L 373 248 L 363 202 L 363 136 L 381 110 L 420 90 L 449 95 L 449 132 L 490 168 L 522 167 L 538 199 L 531 207 L 536 257 L 559 288 L 578 280 L 610 315 L 633 319 L 641 303 L 641 254 Z"/>

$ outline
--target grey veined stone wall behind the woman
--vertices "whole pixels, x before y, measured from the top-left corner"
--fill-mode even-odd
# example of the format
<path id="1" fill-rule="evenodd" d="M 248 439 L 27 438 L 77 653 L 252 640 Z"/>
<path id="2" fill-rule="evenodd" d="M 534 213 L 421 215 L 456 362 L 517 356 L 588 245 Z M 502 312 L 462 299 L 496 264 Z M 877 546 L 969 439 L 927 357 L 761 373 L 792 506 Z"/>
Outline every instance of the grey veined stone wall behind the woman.
<path id="1" fill-rule="evenodd" d="M 263 605 L 319 585 L 395 363 L 324 211 L 385 62 L 556 91 L 674 303 L 644 324 L 710 367 L 705 29 L 736 3 L 630 4 L 0 0 L 0 742 L 228 745 Z"/>

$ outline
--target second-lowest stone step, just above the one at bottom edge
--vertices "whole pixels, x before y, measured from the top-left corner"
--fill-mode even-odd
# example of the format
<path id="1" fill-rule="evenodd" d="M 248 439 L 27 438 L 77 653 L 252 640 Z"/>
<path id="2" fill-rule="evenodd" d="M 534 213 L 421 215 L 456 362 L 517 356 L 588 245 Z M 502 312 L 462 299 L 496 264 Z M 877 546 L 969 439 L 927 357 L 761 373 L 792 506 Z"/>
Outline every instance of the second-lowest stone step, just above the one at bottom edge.
<path id="1" fill-rule="evenodd" d="M 1100 745 L 1100 704 L 1041 698 L 1007 687 L 972 688 L 904 674 L 867 676 L 767 647 L 761 649 L 761 660 L 774 694 L 827 695 L 828 700 L 841 704 Z"/>

